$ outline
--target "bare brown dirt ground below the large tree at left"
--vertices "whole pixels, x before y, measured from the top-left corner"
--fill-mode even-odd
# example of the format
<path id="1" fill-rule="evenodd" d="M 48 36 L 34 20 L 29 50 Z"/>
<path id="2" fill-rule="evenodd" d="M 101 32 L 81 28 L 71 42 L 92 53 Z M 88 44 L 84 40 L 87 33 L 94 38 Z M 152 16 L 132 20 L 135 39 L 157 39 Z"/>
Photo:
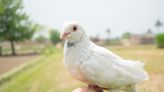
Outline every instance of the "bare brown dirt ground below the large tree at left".
<path id="1" fill-rule="evenodd" d="M 0 57 L 0 75 L 11 69 L 36 58 L 38 55 L 24 55 L 24 56 L 7 56 Z"/>

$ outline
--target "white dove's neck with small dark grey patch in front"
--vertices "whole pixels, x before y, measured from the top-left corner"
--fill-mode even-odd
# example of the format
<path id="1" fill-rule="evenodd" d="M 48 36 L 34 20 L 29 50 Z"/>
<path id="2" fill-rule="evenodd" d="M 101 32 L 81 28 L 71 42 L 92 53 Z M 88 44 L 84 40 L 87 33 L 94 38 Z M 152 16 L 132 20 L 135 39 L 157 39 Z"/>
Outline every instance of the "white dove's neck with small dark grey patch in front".
<path id="1" fill-rule="evenodd" d="M 77 41 L 66 42 L 64 57 L 66 61 L 84 61 L 90 57 L 92 43 L 87 37 L 81 37 Z"/>

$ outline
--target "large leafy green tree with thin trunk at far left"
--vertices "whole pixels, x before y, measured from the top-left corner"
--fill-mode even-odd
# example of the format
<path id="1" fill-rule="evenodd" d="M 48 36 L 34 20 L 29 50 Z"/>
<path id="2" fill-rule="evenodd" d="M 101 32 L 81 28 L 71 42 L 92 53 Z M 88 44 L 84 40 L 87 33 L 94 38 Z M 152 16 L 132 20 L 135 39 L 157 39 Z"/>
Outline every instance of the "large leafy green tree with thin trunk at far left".
<path id="1" fill-rule="evenodd" d="M 22 10 L 22 0 L 0 0 L 0 40 L 10 42 L 12 55 L 14 43 L 31 38 L 36 28 Z"/>

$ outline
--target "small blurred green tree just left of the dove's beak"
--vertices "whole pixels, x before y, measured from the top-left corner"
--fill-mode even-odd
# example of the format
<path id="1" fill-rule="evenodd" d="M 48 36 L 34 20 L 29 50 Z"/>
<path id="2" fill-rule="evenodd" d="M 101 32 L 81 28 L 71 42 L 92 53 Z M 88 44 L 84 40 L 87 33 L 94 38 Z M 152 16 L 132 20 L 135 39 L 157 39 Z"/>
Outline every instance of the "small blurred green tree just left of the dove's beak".
<path id="1" fill-rule="evenodd" d="M 60 42 L 60 33 L 57 30 L 50 30 L 50 40 L 53 44 Z"/>

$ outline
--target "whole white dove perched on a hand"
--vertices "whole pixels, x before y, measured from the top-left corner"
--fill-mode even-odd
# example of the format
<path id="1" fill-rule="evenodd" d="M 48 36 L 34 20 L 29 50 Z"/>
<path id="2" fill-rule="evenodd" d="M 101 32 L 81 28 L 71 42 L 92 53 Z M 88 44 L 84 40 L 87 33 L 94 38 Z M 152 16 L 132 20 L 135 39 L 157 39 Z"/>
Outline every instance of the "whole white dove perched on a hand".
<path id="1" fill-rule="evenodd" d="M 64 46 L 64 63 L 69 72 L 89 87 L 118 92 L 137 92 L 136 84 L 147 80 L 143 63 L 125 60 L 89 40 L 85 29 L 76 21 L 63 25 L 61 39 Z M 99 90 L 102 92 L 102 90 Z"/>

